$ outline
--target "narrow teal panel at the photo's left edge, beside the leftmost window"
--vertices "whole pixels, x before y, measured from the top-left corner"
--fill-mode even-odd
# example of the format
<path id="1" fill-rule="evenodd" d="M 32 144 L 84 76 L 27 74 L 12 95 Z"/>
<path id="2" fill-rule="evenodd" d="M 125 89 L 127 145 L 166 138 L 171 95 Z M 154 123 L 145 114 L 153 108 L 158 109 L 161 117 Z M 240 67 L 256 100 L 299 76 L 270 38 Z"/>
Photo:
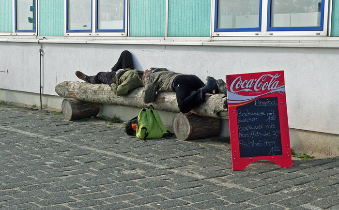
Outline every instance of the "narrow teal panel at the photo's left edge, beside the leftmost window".
<path id="1" fill-rule="evenodd" d="M 0 0 L 0 32 L 13 32 L 12 0 Z"/>

